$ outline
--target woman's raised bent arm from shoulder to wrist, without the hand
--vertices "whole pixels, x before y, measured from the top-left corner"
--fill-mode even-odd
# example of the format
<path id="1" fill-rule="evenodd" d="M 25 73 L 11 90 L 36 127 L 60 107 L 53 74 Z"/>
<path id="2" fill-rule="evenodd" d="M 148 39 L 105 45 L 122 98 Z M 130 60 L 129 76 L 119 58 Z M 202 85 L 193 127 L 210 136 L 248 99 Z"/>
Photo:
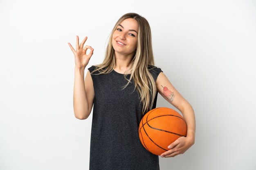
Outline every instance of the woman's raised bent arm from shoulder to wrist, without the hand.
<path id="1" fill-rule="evenodd" d="M 84 69 L 75 69 L 73 106 L 74 114 L 78 119 L 87 119 L 92 111 L 94 88 L 92 77 L 88 70 L 84 79 Z"/>

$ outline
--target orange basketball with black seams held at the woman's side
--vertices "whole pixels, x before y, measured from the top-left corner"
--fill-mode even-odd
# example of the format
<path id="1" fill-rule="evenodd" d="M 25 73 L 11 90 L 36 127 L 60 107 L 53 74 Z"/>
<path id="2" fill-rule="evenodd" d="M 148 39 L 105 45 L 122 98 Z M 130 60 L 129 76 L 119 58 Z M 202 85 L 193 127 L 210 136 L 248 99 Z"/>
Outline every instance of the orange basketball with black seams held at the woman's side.
<path id="1" fill-rule="evenodd" d="M 158 107 L 148 111 L 139 124 L 139 139 L 150 153 L 161 155 L 179 137 L 186 136 L 186 122 L 175 110 Z"/>

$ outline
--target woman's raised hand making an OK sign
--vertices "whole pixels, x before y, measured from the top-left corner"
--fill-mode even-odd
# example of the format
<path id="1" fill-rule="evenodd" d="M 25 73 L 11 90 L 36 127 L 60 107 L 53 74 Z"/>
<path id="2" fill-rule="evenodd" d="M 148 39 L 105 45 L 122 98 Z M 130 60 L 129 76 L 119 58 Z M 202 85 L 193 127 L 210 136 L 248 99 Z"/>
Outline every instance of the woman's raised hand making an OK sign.
<path id="1" fill-rule="evenodd" d="M 67 43 L 72 52 L 74 53 L 75 56 L 75 67 L 76 68 L 83 68 L 85 69 L 86 65 L 88 65 L 90 58 L 92 57 L 93 54 L 93 48 L 91 46 L 85 46 L 83 48 L 83 45 L 85 44 L 85 41 L 87 40 L 87 37 L 83 39 L 79 46 L 79 37 L 76 35 L 76 50 L 72 47 L 70 43 Z M 90 53 L 86 54 L 87 49 L 90 49 Z"/>

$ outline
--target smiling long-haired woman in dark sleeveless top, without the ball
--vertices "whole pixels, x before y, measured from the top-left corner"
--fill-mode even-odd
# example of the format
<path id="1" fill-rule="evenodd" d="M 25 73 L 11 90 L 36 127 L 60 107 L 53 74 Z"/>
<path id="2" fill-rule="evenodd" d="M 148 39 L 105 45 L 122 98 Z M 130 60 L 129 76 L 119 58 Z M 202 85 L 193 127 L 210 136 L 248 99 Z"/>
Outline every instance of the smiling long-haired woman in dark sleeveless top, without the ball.
<path id="1" fill-rule="evenodd" d="M 170 144 L 161 157 L 174 157 L 189 149 L 195 141 L 194 111 L 154 66 L 147 20 L 136 13 L 123 15 L 112 30 L 103 63 L 88 68 L 84 80 L 94 51 L 84 46 L 86 40 L 79 45 L 76 36 L 76 50 L 68 44 L 75 56 L 75 117 L 88 118 L 94 106 L 90 169 L 159 169 L 159 157 L 142 146 L 138 134 L 141 118 L 156 107 L 158 92 L 180 110 L 187 124 L 187 136 Z"/>

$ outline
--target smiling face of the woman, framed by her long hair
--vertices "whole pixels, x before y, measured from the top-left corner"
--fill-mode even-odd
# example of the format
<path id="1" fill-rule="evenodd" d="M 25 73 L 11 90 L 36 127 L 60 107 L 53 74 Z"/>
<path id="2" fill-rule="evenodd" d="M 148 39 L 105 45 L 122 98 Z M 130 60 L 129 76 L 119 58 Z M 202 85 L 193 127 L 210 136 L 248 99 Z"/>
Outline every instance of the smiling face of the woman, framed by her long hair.
<path id="1" fill-rule="evenodd" d="M 112 36 L 115 53 L 133 54 L 137 48 L 139 26 L 135 19 L 127 18 L 121 22 Z"/>

